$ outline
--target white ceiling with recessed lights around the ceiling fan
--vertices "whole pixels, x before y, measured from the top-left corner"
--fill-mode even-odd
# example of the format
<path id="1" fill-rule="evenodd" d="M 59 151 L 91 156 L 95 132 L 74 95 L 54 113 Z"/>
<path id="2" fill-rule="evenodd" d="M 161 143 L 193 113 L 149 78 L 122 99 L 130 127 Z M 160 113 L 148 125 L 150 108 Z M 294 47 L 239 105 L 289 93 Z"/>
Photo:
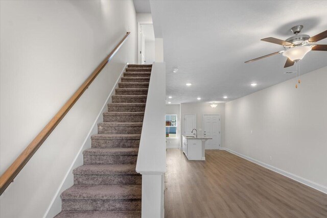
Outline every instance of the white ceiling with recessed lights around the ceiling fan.
<path id="1" fill-rule="evenodd" d="M 310 36 L 327 30 L 327 1 L 150 1 L 150 5 L 155 37 L 164 38 L 166 92 L 173 96 L 172 104 L 197 102 L 198 96 L 200 102 L 227 102 L 289 80 L 295 75 L 284 72 L 296 68 L 284 69 L 282 54 L 244 61 L 283 50 L 282 45 L 260 39 L 285 40 L 295 25 L 303 25 L 301 33 Z M 327 39 L 319 44 L 327 44 Z M 300 65 L 301 74 L 327 66 L 327 52 L 312 51 Z M 251 87 L 251 82 L 258 86 Z"/>

